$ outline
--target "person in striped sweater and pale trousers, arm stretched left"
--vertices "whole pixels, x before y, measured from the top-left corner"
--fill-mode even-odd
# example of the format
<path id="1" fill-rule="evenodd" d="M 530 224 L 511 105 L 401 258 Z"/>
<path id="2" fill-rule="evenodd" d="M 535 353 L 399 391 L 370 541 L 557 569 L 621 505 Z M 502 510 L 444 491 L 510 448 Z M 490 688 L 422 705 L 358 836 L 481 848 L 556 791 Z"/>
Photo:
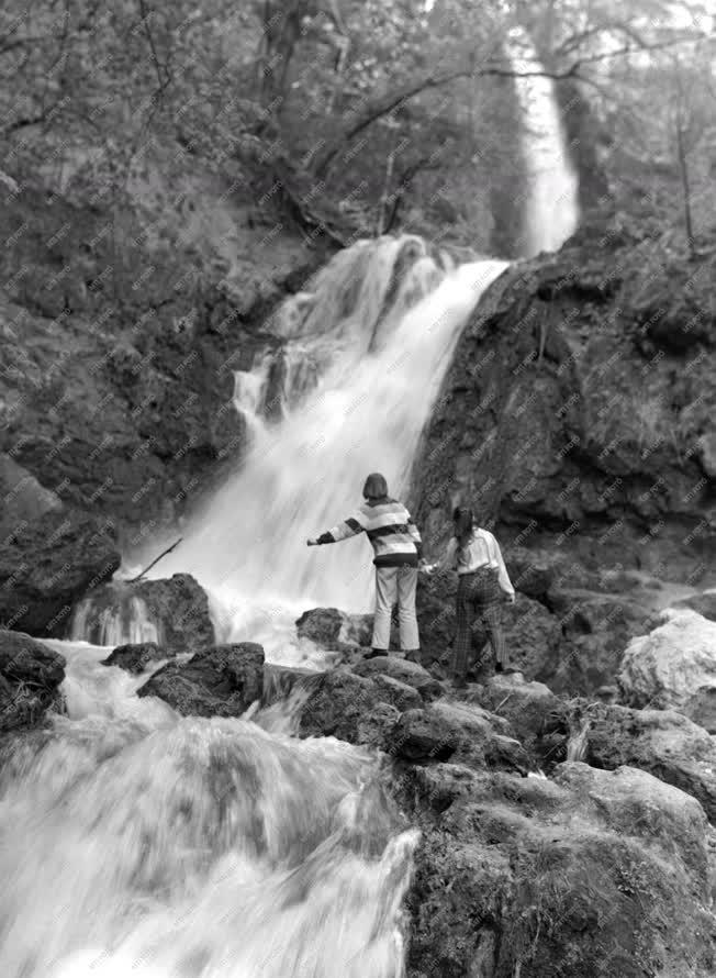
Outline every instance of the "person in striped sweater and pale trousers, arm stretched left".
<path id="1" fill-rule="evenodd" d="M 376 614 L 372 648 L 366 658 L 388 655 L 390 620 L 398 601 L 401 649 L 410 658 L 419 657 L 419 637 L 415 615 L 417 566 L 423 542 L 417 526 L 402 502 L 391 499 L 380 473 L 371 473 L 363 486 L 365 502 L 348 519 L 321 536 L 311 537 L 309 546 L 337 543 L 366 533 L 376 556 Z"/>

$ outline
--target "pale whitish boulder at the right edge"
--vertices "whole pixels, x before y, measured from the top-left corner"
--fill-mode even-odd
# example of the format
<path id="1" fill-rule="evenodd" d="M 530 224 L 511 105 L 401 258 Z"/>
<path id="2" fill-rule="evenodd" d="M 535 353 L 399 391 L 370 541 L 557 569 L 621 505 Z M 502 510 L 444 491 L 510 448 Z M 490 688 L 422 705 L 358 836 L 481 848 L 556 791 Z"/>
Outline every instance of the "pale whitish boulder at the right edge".
<path id="1" fill-rule="evenodd" d="M 663 624 L 633 640 L 618 680 L 634 707 L 673 709 L 716 733 L 716 623 L 667 609 Z"/>

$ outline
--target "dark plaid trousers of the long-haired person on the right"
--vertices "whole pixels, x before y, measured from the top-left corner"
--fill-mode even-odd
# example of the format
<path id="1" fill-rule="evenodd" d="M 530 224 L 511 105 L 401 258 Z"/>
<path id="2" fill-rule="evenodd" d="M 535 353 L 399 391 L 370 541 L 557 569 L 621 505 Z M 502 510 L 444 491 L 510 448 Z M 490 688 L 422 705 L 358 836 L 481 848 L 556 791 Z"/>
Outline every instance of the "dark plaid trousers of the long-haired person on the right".
<path id="1" fill-rule="evenodd" d="M 465 679 L 472 652 L 472 630 L 476 619 L 482 622 L 490 636 L 495 662 L 507 665 L 505 640 L 500 625 L 500 605 L 504 600 L 497 582 L 497 571 L 489 567 L 458 577 L 456 596 L 457 634 L 452 649 L 452 674 Z"/>

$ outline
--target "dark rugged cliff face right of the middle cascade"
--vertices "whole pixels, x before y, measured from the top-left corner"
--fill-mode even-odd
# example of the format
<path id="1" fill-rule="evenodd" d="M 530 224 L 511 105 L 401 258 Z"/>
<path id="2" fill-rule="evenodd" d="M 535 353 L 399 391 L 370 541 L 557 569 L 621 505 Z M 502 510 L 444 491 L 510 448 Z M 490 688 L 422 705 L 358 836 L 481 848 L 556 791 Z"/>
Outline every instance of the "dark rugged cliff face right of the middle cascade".
<path id="1" fill-rule="evenodd" d="M 466 329 L 414 467 L 428 548 L 471 502 L 510 547 L 714 580 L 716 253 L 615 224 L 518 263 Z"/>

